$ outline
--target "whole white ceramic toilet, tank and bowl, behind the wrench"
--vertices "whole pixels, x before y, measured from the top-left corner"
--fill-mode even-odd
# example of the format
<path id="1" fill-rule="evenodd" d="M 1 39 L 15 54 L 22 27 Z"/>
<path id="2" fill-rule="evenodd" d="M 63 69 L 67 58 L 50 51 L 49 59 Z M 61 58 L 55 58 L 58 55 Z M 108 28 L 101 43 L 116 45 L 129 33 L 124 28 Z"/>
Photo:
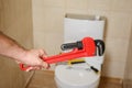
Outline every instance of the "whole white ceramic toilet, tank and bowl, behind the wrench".
<path id="1" fill-rule="evenodd" d="M 67 14 L 65 18 L 64 41 L 70 43 L 85 36 L 95 40 L 103 38 L 105 19 L 101 16 Z M 103 56 L 82 57 L 86 63 L 57 65 L 55 81 L 58 88 L 98 88 Z M 99 70 L 95 73 L 90 67 Z"/>

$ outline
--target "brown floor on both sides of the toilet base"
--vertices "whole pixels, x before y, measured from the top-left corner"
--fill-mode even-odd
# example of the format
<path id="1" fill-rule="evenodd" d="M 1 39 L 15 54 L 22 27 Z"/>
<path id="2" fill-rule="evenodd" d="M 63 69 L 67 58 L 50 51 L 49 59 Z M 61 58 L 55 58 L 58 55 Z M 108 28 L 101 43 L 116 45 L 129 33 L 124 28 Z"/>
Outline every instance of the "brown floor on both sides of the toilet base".
<path id="1" fill-rule="evenodd" d="M 53 72 L 36 72 L 28 88 L 57 88 Z M 99 88 L 122 88 L 119 79 L 102 77 Z"/>

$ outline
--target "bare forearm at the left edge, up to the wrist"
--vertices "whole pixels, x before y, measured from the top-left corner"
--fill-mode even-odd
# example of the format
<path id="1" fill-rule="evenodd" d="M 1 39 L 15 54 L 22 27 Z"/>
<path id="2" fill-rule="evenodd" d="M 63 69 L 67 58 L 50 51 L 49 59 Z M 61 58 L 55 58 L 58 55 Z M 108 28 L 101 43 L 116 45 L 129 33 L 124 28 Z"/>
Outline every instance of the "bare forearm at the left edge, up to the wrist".
<path id="1" fill-rule="evenodd" d="M 19 45 L 14 40 L 0 32 L 0 55 L 14 59 L 21 59 L 25 54 L 25 48 Z"/>

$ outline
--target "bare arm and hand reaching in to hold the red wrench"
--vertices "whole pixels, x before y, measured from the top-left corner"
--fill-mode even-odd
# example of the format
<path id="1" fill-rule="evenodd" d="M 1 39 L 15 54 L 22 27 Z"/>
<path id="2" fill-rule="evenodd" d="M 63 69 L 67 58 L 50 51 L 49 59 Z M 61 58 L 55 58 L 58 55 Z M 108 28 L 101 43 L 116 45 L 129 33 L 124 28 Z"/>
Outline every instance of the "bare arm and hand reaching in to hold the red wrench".
<path id="1" fill-rule="evenodd" d="M 10 57 L 26 65 L 42 67 L 47 66 L 47 64 L 40 58 L 45 56 L 43 50 L 25 50 L 2 32 L 0 32 L 0 55 Z"/>

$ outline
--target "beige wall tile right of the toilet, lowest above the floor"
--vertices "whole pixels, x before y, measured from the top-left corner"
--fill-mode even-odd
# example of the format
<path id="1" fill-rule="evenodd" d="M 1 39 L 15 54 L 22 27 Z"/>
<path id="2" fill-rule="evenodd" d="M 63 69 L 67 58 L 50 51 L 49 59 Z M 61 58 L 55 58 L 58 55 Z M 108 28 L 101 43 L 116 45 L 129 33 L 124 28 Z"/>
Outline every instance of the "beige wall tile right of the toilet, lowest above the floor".
<path id="1" fill-rule="evenodd" d="M 128 45 L 125 38 L 106 38 L 103 76 L 123 78 Z"/>

